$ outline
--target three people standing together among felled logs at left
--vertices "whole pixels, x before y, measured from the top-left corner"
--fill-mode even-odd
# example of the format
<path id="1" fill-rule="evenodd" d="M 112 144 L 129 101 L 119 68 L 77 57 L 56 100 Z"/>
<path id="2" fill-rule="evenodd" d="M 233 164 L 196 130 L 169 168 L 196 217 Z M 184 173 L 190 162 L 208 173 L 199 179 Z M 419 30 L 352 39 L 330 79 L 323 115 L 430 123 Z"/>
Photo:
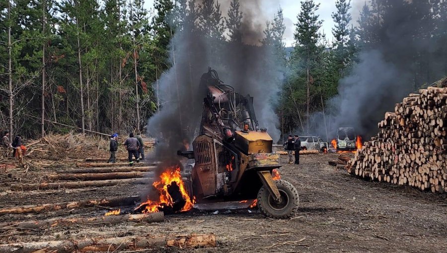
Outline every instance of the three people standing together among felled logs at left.
<path id="1" fill-rule="evenodd" d="M 110 158 L 108 163 L 116 162 L 116 151 L 118 150 L 118 133 L 114 133 L 110 135 Z M 134 165 L 134 159 L 138 163 L 141 160 L 145 160 L 145 143 L 143 141 L 143 137 L 140 133 L 137 133 L 137 136 L 134 135 L 133 132 L 129 134 L 129 138 L 123 144 L 126 147 L 126 150 L 129 155 L 129 166 Z"/>

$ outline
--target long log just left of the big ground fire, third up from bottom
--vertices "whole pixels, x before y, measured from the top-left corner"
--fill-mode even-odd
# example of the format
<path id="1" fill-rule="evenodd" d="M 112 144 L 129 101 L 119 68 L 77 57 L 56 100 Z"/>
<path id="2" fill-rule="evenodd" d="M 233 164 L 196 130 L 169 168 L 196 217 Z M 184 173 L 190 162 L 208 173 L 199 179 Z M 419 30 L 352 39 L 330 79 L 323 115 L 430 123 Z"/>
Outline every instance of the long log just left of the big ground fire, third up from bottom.
<path id="1" fill-rule="evenodd" d="M 24 205 L 9 208 L 0 209 L 0 215 L 3 214 L 23 214 L 23 213 L 39 213 L 39 212 L 49 212 L 57 211 L 63 209 L 74 209 L 92 206 L 129 206 L 133 205 L 135 202 L 140 201 L 140 196 L 127 196 L 127 197 L 117 197 L 117 198 L 103 198 L 103 199 L 88 199 L 80 200 L 74 202 L 63 202 L 55 204 L 42 204 L 42 205 Z"/>

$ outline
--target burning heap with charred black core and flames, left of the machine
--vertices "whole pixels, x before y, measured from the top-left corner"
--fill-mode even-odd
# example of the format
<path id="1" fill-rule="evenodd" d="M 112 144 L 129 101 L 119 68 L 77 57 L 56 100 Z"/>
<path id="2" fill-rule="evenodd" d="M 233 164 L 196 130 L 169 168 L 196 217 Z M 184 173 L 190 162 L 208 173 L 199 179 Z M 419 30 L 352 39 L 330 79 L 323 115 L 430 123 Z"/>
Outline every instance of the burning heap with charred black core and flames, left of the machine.
<path id="1" fill-rule="evenodd" d="M 155 197 L 141 203 L 135 211 L 142 213 L 154 212 L 184 212 L 193 208 L 195 199 L 185 186 L 180 167 L 169 167 L 164 170 L 158 181 L 153 182 Z"/>

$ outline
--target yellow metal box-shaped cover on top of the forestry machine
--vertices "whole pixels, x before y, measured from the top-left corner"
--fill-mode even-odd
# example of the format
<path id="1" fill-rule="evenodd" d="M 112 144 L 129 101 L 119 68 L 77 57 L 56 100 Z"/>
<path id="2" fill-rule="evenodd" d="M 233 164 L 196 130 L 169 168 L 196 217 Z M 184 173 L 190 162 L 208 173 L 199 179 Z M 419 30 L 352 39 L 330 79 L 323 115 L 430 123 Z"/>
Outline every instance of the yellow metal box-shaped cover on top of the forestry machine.
<path id="1" fill-rule="evenodd" d="M 235 132 L 235 145 L 246 154 L 271 153 L 273 139 L 267 132 Z"/>

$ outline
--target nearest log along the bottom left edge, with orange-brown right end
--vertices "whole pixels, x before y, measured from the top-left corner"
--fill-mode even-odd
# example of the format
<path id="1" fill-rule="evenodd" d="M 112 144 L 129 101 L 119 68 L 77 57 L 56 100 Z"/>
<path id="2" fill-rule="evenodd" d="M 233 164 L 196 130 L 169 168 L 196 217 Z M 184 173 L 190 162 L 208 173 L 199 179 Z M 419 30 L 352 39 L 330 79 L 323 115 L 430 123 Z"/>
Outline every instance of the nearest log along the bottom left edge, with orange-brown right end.
<path id="1" fill-rule="evenodd" d="M 91 238 L 78 241 L 48 241 L 14 243 L 0 245 L 0 252 L 4 253 L 71 253 L 71 252 L 119 252 L 142 251 L 145 249 L 166 247 L 198 248 L 216 247 L 216 236 L 206 235 L 179 235 L 179 236 L 127 236 L 116 238 Z"/>

